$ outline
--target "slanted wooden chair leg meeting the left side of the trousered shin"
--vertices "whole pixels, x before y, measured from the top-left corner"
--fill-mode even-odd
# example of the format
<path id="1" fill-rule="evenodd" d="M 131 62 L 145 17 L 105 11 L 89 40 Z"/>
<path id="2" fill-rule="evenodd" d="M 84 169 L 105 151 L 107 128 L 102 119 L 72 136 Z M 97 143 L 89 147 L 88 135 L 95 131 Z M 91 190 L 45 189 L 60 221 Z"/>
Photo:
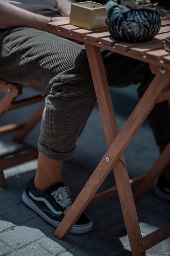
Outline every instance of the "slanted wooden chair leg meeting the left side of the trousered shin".
<path id="1" fill-rule="evenodd" d="M 30 118 L 28 122 L 26 122 L 22 128 L 18 131 L 18 133 L 14 136 L 13 140 L 16 142 L 20 142 L 27 134 L 34 128 L 34 126 L 41 120 L 41 116 L 43 114 L 44 105 L 42 105 Z"/>

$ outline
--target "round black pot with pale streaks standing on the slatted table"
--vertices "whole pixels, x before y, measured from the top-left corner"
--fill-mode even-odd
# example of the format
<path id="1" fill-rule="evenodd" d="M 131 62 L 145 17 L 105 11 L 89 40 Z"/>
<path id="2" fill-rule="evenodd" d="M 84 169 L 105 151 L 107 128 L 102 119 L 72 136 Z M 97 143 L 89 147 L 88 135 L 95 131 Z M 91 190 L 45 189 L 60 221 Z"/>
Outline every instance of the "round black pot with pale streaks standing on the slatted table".
<path id="1" fill-rule="evenodd" d="M 111 35 L 126 42 L 146 42 L 159 31 L 160 16 L 152 11 L 130 10 L 122 13 L 118 7 L 106 13 L 106 24 Z"/>

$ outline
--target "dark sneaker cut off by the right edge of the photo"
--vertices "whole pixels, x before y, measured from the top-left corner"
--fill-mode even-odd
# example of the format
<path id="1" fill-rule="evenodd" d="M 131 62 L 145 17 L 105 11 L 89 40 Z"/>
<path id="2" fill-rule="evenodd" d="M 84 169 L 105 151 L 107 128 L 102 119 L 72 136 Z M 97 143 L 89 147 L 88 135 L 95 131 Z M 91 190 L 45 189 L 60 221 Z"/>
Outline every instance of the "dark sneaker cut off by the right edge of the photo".
<path id="1" fill-rule="evenodd" d="M 159 176 L 155 194 L 170 201 L 170 182 L 165 179 L 163 174 Z"/>

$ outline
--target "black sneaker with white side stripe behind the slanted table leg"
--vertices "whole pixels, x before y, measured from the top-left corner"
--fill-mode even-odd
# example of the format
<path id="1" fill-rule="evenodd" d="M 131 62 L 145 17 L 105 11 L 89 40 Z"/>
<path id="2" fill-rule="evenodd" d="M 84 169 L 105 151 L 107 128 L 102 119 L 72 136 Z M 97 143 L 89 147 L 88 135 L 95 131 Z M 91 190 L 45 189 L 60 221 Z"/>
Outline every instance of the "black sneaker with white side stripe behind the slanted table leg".
<path id="1" fill-rule="evenodd" d="M 54 183 L 49 188 L 39 191 L 34 186 L 34 179 L 23 191 L 22 201 L 55 228 L 62 221 L 64 210 L 73 202 L 70 197 L 70 190 L 63 185 L 63 182 Z M 70 233 L 83 234 L 90 231 L 92 226 L 92 220 L 83 213 Z"/>

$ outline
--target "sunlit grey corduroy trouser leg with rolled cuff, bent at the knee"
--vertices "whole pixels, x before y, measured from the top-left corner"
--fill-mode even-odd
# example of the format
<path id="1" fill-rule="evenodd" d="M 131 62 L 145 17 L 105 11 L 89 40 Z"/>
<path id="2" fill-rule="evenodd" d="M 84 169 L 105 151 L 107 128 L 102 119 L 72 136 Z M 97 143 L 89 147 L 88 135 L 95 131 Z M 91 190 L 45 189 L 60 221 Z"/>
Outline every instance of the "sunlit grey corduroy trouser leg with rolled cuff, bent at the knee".
<path id="1" fill-rule="evenodd" d="M 84 46 L 31 28 L 3 31 L 0 45 L 0 77 L 47 95 L 39 151 L 70 159 L 96 102 Z"/>

